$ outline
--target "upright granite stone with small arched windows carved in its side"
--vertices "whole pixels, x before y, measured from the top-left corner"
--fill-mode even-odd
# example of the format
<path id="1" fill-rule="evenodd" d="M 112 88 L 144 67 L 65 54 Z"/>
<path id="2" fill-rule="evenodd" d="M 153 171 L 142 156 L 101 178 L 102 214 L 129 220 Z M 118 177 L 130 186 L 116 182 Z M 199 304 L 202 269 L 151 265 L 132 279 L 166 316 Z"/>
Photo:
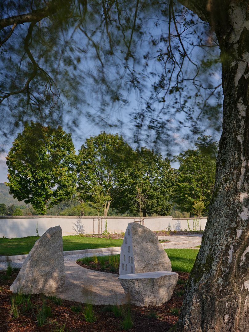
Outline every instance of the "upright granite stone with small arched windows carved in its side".
<path id="1" fill-rule="evenodd" d="M 124 234 L 119 274 L 171 271 L 171 263 L 156 235 L 137 222 L 130 222 Z"/>

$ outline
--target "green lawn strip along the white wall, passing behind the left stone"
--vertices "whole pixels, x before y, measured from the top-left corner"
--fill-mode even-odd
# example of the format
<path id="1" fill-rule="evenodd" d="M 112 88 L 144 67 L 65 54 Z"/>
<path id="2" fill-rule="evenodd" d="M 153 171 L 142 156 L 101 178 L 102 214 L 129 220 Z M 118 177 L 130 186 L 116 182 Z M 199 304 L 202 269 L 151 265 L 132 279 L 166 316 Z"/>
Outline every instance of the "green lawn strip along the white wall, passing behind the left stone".
<path id="1" fill-rule="evenodd" d="M 28 254 L 37 239 L 39 239 L 38 236 L 27 236 L 13 239 L 0 238 L 0 255 L 12 256 Z M 106 239 L 78 235 L 63 236 L 62 239 L 64 251 L 121 247 L 123 243 L 123 239 Z"/>

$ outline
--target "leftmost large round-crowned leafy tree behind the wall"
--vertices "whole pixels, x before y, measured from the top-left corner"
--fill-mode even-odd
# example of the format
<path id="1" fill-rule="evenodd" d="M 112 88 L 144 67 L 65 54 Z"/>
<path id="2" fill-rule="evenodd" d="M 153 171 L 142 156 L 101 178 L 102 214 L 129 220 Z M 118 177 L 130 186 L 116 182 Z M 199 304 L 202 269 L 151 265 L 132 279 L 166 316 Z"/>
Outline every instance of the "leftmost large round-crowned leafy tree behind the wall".
<path id="1" fill-rule="evenodd" d="M 6 159 L 10 194 L 31 203 L 38 213 L 71 198 L 76 156 L 71 135 L 61 127 L 26 124 Z"/>

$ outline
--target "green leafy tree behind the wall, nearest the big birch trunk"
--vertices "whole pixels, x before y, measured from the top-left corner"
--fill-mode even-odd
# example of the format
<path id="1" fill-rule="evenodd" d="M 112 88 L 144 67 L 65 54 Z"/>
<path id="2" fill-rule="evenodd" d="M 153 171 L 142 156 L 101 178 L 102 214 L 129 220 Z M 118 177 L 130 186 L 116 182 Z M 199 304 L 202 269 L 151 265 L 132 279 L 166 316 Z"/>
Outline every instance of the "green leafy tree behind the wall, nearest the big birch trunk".
<path id="1" fill-rule="evenodd" d="M 195 143 L 197 149 L 187 150 L 174 158 L 180 166 L 177 170 L 175 198 L 182 212 L 187 211 L 193 216 L 193 205 L 202 199 L 207 213 L 211 201 L 215 170 L 217 143 L 210 136 L 199 137 Z"/>

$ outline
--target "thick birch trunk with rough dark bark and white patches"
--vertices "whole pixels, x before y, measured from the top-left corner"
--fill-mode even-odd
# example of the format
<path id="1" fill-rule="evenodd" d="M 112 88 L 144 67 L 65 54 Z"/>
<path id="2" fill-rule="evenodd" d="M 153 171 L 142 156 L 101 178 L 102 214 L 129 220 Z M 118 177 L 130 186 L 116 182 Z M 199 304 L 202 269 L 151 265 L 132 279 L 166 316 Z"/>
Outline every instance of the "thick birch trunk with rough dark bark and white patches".
<path id="1" fill-rule="evenodd" d="M 224 92 L 214 193 L 174 331 L 249 331 L 249 13 L 246 1 L 223 11 L 213 17 Z"/>

